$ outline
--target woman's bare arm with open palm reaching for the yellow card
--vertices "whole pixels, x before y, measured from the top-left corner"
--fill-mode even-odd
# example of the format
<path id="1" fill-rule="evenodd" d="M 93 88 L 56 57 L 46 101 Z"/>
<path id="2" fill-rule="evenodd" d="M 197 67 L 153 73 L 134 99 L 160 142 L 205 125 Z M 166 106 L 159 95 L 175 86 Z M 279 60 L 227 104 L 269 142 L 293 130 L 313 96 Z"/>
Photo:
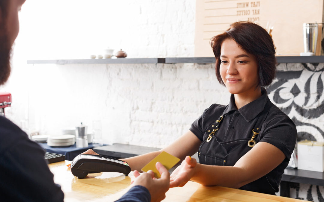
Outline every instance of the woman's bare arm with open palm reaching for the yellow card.
<path id="1" fill-rule="evenodd" d="M 170 177 L 170 187 L 183 186 L 189 180 L 205 186 L 239 188 L 268 174 L 285 159 L 284 153 L 266 142 L 257 143 L 234 166 L 197 164 L 189 156 Z"/>

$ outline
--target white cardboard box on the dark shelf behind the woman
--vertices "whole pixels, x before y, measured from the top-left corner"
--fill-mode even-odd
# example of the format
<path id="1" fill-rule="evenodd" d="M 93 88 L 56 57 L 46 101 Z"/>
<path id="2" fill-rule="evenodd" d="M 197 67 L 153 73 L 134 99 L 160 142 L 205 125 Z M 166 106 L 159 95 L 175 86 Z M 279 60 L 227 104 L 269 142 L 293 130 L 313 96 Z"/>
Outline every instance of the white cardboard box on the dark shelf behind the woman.
<path id="1" fill-rule="evenodd" d="M 324 172 L 324 143 L 304 140 L 297 143 L 298 169 Z"/>

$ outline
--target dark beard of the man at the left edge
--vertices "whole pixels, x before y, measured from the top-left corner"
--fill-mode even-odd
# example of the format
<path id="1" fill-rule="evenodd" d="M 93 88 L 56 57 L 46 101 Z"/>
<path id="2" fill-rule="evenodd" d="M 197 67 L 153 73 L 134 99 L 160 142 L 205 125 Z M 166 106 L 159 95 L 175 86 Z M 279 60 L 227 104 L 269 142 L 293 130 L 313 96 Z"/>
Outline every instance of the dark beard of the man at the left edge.
<path id="1" fill-rule="evenodd" d="M 3 33 L 1 33 L 3 32 Z M 6 83 L 10 75 L 11 45 L 5 30 L 0 31 L 0 85 Z"/>

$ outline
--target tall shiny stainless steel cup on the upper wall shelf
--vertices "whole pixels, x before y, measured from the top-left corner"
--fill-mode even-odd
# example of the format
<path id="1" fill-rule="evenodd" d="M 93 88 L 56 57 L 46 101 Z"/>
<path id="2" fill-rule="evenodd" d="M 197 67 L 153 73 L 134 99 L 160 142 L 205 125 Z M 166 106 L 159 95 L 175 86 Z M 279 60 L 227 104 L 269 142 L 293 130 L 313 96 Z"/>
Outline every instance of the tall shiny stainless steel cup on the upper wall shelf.
<path id="1" fill-rule="evenodd" d="M 317 37 L 318 37 L 318 24 L 317 23 L 304 23 L 304 52 L 316 53 Z"/>

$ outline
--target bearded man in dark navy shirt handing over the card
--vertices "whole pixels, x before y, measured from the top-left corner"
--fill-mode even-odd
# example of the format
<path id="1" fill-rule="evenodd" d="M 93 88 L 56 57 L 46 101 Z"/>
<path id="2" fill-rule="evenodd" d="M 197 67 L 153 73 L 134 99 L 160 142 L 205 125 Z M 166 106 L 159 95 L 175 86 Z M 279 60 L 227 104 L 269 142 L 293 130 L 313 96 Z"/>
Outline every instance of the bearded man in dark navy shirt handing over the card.
<path id="1" fill-rule="evenodd" d="M 26 0 L 0 0 L 0 85 L 10 75 L 11 47 L 19 32 L 18 12 Z M 170 174 L 157 164 L 160 179 L 153 171 L 134 172 L 132 188 L 118 202 L 161 201 L 169 189 Z M 0 116 L 0 197 L 1 201 L 63 201 L 61 186 L 54 183 L 40 145 L 31 141 L 17 125 Z M 72 175 L 72 174 L 71 174 Z"/>

